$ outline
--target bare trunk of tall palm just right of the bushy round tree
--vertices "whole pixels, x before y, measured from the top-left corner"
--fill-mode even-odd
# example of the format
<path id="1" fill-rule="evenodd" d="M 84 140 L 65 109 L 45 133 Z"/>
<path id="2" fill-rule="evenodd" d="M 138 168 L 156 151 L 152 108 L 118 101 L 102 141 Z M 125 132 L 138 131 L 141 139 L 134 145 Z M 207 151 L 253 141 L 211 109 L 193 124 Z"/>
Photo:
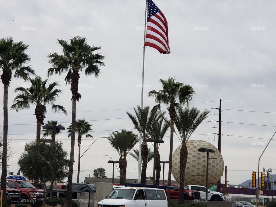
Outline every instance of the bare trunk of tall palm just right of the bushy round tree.
<path id="1" fill-rule="evenodd" d="M 76 98 L 72 99 L 72 129 L 71 129 L 71 149 L 70 149 L 70 161 L 68 170 L 68 184 L 66 191 L 66 200 L 64 207 L 71 207 L 72 199 L 72 181 L 73 181 L 73 167 L 74 167 L 74 149 L 75 149 L 75 130 L 76 130 Z"/>

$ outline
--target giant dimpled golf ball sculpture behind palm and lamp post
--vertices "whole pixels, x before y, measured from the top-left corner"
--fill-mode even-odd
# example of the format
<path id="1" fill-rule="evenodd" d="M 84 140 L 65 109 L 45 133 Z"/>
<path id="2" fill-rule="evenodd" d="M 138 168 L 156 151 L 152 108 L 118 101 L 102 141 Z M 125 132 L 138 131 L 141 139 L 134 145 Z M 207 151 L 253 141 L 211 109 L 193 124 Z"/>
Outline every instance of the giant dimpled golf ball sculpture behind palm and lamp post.
<path id="1" fill-rule="evenodd" d="M 185 185 L 206 185 L 206 163 L 207 152 L 198 152 L 200 147 L 213 149 L 214 153 L 209 153 L 208 187 L 215 185 L 223 176 L 224 162 L 218 149 L 209 142 L 202 140 L 190 140 L 187 142 L 188 158 L 185 170 Z M 172 173 L 175 180 L 179 183 L 180 172 L 180 149 L 177 147 L 173 153 Z"/>

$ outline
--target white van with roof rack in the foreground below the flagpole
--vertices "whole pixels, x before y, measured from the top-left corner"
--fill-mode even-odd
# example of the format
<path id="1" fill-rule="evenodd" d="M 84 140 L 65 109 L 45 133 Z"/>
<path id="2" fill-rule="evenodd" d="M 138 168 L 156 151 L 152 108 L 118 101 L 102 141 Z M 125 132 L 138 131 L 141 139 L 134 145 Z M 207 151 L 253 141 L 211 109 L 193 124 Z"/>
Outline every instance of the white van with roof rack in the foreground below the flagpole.
<path id="1" fill-rule="evenodd" d="M 148 187 L 120 187 L 113 189 L 97 207 L 167 207 L 164 189 Z"/>

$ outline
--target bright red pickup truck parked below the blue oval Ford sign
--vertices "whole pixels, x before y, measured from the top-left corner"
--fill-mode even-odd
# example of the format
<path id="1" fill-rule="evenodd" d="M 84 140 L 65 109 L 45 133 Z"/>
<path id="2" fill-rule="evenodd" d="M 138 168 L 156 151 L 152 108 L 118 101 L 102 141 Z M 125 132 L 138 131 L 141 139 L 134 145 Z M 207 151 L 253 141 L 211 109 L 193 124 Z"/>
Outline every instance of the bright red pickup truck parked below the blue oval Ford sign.
<path id="1" fill-rule="evenodd" d="M 35 188 L 28 181 L 7 179 L 7 186 L 20 191 L 21 203 L 30 203 L 33 199 L 43 200 L 43 189 Z"/>

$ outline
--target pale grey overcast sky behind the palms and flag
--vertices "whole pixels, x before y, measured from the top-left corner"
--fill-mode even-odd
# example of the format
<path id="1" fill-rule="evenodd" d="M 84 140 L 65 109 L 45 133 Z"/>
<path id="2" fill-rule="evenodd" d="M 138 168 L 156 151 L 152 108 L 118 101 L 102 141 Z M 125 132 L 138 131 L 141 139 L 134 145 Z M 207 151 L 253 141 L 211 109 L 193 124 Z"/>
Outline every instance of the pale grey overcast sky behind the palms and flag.
<path id="1" fill-rule="evenodd" d="M 212 108 L 208 121 L 218 120 L 218 110 L 214 108 L 219 107 L 218 100 L 222 99 L 222 121 L 225 122 L 221 132 L 225 135 L 222 136 L 221 152 L 225 165 L 228 166 L 229 184 L 251 179 L 252 170 L 258 169 L 258 158 L 269 141 L 266 139 L 271 138 L 275 132 L 275 114 L 233 110 L 276 112 L 276 3 L 266 1 L 264 4 L 263 1 L 248 0 L 154 2 L 167 18 L 171 53 L 163 55 L 154 48 L 146 48 L 144 105 L 154 106 L 154 99 L 147 97 L 147 93 L 161 89 L 158 81 L 160 78 L 173 76 L 177 81 L 194 87 L 197 95 L 192 106 L 198 109 Z M 77 103 L 76 117 L 85 118 L 93 124 L 91 134 L 94 139 L 106 137 L 112 130 L 133 128 L 126 111 L 133 112 L 132 108 L 139 105 L 141 100 L 144 0 L 0 0 L 0 14 L 0 37 L 12 36 L 16 41 L 22 40 L 29 44 L 27 53 L 32 57 L 31 65 L 37 75 L 43 78 L 47 78 L 46 72 L 50 67 L 47 55 L 53 51 L 62 52 L 57 39 L 79 35 L 86 37 L 90 45 L 101 46 L 100 53 L 105 56 L 106 66 L 101 67 L 102 73 L 97 79 L 81 74 L 79 93 L 82 99 Z M 70 86 L 63 82 L 64 76 L 65 74 L 52 76 L 50 81 L 59 81 L 63 90 L 56 104 L 64 105 L 71 112 L 72 95 Z M 18 86 L 27 86 L 27 83 L 12 79 L 9 107 L 15 96 L 13 90 Z M 2 87 L 0 91 L 0 97 L 3 97 Z M 3 108 L 2 104 L 1 101 L 0 108 Z M 19 113 L 9 110 L 8 133 L 13 142 L 14 156 L 8 164 L 9 170 L 15 174 L 18 170 L 18 157 L 24 151 L 24 143 L 35 140 L 36 137 L 33 113 L 34 107 Z M 0 116 L 2 120 L 3 114 Z M 68 116 L 52 114 L 49 109 L 45 122 L 47 120 L 57 120 L 68 127 L 71 113 Z M 218 128 L 212 127 L 217 127 L 218 124 L 214 124 L 215 122 L 202 123 L 191 139 L 209 141 L 217 146 L 218 137 L 214 133 L 218 133 Z M 168 136 L 169 134 L 160 147 L 161 160 L 165 161 L 169 154 Z M 64 143 L 69 154 L 70 139 L 67 134 L 58 135 L 57 140 Z M 92 141 L 83 138 L 82 152 Z M 179 145 L 180 142 L 175 137 L 173 149 Z M 271 141 L 262 156 L 261 169 L 271 167 L 276 170 L 275 147 L 275 141 Z M 107 163 L 110 158 L 102 154 L 118 159 L 118 153 L 108 141 L 99 138 L 81 159 L 81 181 L 89 177 L 89 174 L 92 176 L 93 169 L 97 167 L 106 168 L 107 177 L 112 176 L 112 164 Z M 77 161 L 77 153 L 75 160 Z M 138 162 L 131 156 L 128 156 L 127 161 L 127 178 L 137 178 Z M 152 176 L 152 168 L 153 162 L 150 162 L 147 176 Z M 166 178 L 167 169 L 168 166 L 165 169 Z M 77 162 L 74 170 L 73 181 L 76 181 Z M 118 175 L 116 171 L 115 176 Z"/>

